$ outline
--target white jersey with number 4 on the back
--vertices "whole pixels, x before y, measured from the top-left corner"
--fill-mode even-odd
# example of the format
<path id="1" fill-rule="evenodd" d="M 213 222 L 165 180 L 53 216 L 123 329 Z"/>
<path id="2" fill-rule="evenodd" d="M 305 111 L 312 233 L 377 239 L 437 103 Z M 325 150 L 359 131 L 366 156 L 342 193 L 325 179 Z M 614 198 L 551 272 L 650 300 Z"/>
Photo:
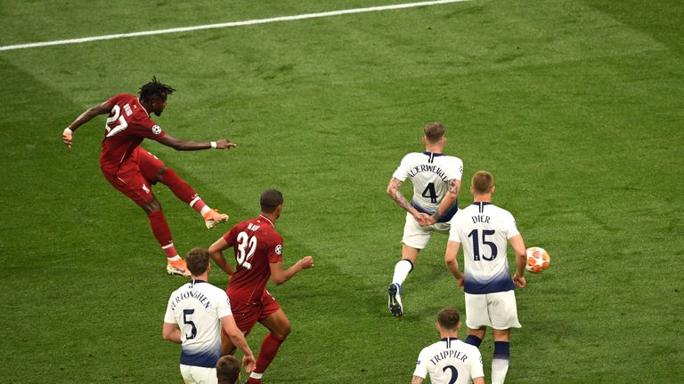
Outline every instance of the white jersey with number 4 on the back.
<path id="1" fill-rule="evenodd" d="M 458 157 L 432 152 L 412 152 L 403 156 L 402 163 L 392 176 L 402 181 L 407 177 L 411 178 L 411 205 L 419 212 L 433 214 L 449 191 L 449 180 L 460 180 L 462 175 L 463 162 Z M 452 209 L 444 212 L 439 221 L 449 221 L 458 209 L 459 205 L 453 204 Z"/>

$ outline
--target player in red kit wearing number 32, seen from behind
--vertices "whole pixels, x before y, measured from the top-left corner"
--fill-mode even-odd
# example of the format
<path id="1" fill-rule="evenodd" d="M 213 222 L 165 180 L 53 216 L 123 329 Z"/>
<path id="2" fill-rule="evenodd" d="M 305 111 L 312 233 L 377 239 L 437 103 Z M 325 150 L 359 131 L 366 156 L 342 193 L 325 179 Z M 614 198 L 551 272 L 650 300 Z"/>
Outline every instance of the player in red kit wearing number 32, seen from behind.
<path id="1" fill-rule="evenodd" d="M 292 326 L 278 301 L 266 291 L 269 277 L 275 284 L 282 284 L 297 272 L 314 267 L 314 258 L 305 256 L 290 268 L 282 268 L 282 236 L 273 225 L 281 216 L 282 194 L 275 189 L 261 194 L 261 214 L 252 220 L 236 224 L 209 248 L 209 255 L 231 280 L 225 292 L 231 300 L 235 323 L 245 336 L 252 331 L 256 322 L 264 324 L 270 331 L 259 349 L 256 368 L 249 376 L 249 384 L 261 383 L 266 368 L 271 364 L 281 343 L 287 338 Z M 223 251 L 233 248 L 235 271 L 225 261 Z M 232 354 L 235 346 L 224 334 L 223 354 Z"/>

